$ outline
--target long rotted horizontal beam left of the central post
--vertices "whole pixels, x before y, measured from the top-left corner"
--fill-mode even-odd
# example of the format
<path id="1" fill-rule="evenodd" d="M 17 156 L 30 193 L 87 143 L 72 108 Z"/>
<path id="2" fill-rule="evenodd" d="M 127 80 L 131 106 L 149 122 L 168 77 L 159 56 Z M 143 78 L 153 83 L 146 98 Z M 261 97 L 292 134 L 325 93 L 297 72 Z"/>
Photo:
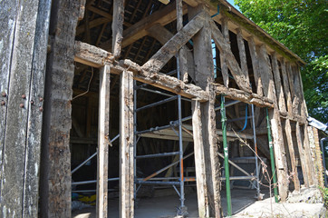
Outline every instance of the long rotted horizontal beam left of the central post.
<path id="1" fill-rule="evenodd" d="M 111 74 L 121 74 L 124 70 L 133 72 L 133 78 L 145 84 L 167 90 L 174 94 L 181 94 L 188 98 L 197 98 L 200 102 L 208 100 L 208 94 L 195 84 L 185 84 L 181 80 L 167 74 L 151 74 L 141 69 L 139 64 L 130 60 L 122 60 L 120 63 L 114 60 L 114 56 L 99 47 L 82 42 L 75 42 L 74 61 L 81 64 L 100 68 L 103 65 L 111 66 Z"/>

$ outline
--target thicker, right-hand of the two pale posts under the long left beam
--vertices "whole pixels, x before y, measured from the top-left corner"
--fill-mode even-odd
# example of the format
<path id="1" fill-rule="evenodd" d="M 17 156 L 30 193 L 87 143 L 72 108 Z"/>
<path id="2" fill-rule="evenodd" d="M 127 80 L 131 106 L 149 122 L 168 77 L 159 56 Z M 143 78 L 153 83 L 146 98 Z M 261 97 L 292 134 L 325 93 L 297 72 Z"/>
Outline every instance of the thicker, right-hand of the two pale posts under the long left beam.
<path id="1" fill-rule="evenodd" d="M 134 170 L 133 170 L 133 74 L 121 73 L 120 93 L 120 217 L 134 216 Z"/>

